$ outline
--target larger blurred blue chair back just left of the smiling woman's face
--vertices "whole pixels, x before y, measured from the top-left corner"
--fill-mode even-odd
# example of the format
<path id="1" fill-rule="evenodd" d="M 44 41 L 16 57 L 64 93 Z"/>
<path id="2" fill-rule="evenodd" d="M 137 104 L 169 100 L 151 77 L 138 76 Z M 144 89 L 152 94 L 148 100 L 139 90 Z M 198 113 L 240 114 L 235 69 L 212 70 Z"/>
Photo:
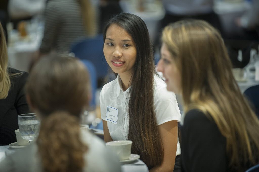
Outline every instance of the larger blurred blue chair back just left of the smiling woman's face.
<path id="1" fill-rule="evenodd" d="M 108 64 L 103 54 L 103 35 L 95 38 L 85 38 L 72 45 L 70 52 L 79 59 L 87 59 L 95 66 L 97 78 L 103 78 L 108 73 Z"/>

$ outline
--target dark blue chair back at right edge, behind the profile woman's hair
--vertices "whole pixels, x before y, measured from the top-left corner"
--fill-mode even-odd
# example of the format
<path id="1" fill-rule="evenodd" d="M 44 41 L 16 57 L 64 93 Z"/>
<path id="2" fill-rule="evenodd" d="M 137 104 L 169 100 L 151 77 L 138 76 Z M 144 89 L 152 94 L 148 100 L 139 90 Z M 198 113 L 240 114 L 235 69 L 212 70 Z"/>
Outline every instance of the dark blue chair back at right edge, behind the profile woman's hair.
<path id="1" fill-rule="evenodd" d="M 259 85 L 251 86 L 244 91 L 244 96 L 250 101 L 251 108 L 259 118 Z"/>

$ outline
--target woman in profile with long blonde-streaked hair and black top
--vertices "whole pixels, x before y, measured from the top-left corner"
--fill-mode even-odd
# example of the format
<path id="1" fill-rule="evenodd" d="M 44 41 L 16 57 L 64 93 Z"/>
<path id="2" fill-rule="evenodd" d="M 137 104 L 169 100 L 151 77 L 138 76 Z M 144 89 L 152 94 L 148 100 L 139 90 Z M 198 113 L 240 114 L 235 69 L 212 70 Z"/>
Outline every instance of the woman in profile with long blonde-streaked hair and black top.
<path id="1" fill-rule="evenodd" d="M 259 120 L 241 94 L 219 32 L 202 20 L 168 25 L 158 71 L 182 94 L 184 171 L 246 171 L 259 163 Z"/>

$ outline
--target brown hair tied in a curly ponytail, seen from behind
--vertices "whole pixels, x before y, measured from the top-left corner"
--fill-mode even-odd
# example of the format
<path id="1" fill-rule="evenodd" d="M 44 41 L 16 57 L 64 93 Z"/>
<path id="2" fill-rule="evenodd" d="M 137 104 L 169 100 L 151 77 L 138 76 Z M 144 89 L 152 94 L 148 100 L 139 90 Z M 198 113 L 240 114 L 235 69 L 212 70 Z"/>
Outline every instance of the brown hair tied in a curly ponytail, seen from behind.
<path id="1" fill-rule="evenodd" d="M 85 166 L 79 116 L 88 92 L 88 73 L 76 58 L 45 57 L 32 68 L 26 94 L 41 116 L 37 145 L 45 172 L 79 172 Z"/>

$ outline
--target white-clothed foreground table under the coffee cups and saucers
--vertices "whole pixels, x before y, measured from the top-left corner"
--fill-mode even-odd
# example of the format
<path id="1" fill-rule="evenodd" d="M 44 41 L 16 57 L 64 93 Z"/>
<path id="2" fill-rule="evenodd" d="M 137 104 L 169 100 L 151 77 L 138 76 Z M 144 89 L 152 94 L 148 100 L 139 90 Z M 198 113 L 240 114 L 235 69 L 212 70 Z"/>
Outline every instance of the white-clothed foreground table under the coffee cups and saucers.
<path id="1" fill-rule="evenodd" d="M 11 148 L 9 146 L 0 146 L 0 161 L 5 157 L 5 154 L 13 153 L 17 148 Z M 141 160 L 136 160 L 132 163 L 122 163 L 121 170 L 123 172 L 148 172 L 146 164 Z"/>

